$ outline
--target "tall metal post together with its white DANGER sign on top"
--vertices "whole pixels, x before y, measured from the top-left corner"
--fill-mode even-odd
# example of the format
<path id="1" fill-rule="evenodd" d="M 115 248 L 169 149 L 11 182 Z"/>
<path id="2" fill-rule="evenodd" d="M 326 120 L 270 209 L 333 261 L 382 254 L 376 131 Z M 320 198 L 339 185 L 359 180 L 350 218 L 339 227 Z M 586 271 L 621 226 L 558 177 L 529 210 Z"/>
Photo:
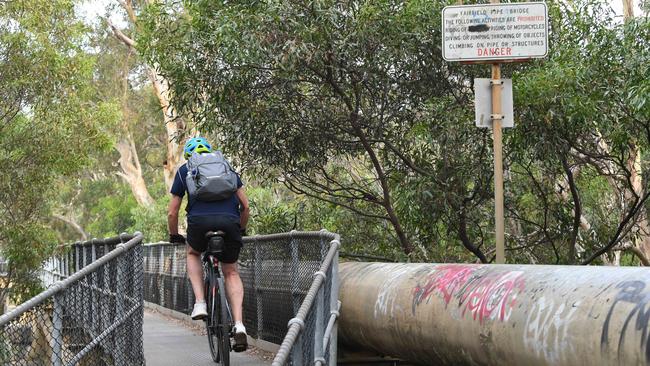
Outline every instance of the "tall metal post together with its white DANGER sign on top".
<path id="1" fill-rule="evenodd" d="M 462 1 L 458 1 L 462 4 Z M 503 146 L 500 62 L 543 58 L 548 53 L 548 10 L 543 2 L 447 6 L 442 11 L 442 57 L 447 61 L 489 63 L 494 150 L 496 263 L 505 263 Z M 507 95 L 509 97 L 510 95 Z M 477 103 L 480 98 L 477 97 Z M 479 108 L 477 105 L 477 116 Z M 509 113 L 507 111 L 507 113 Z M 509 116 L 512 118 L 512 116 Z M 478 117 L 477 117 L 478 118 Z M 480 121 L 477 124 L 481 124 Z"/>

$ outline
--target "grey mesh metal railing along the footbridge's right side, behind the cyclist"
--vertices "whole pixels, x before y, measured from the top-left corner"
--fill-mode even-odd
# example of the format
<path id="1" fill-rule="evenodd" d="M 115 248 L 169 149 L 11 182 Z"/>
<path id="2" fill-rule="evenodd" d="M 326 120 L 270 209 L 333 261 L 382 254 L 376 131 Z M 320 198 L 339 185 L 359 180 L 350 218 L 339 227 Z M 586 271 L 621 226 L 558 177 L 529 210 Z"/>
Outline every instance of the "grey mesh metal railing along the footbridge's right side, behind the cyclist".
<path id="1" fill-rule="evenodd" d="M 282 343 L 274 364 L 336 364 L 338 247 L 325 230 L 244 238 L 244 323 L 251 337 Z M 191 311 L 185 255 L 184 244 L 144 245 L 145 301 Z"/>

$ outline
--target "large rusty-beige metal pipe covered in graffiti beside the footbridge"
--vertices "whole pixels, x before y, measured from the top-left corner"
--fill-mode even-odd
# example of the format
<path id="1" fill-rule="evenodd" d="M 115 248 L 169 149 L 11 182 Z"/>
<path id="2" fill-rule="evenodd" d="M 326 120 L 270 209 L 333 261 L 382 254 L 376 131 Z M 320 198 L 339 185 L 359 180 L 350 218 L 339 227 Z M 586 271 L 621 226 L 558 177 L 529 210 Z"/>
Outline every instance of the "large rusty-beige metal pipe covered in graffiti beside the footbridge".
<path id="1" fill-rule="evenodd" d="M 650 270 L 341 263 L 343 344 L 423 365 L 648 365 Z"/>

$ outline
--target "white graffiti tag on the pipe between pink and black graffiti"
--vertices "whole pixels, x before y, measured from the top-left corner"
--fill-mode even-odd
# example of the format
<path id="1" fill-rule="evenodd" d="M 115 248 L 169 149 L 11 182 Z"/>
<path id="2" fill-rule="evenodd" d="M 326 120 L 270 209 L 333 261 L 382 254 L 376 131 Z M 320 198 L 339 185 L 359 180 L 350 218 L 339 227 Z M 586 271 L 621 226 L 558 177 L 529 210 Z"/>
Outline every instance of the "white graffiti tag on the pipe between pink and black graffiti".
<path id="1" fill-rule="evenodd" d="M 567 305 L 540 297 L 529 309 L 524 331 L 524 344 L 531 353 L 546 362 L 558 364 L 563 356 L 574 354 L 574 342 L 567 341 L 571 320 L 580 301 Z"/>

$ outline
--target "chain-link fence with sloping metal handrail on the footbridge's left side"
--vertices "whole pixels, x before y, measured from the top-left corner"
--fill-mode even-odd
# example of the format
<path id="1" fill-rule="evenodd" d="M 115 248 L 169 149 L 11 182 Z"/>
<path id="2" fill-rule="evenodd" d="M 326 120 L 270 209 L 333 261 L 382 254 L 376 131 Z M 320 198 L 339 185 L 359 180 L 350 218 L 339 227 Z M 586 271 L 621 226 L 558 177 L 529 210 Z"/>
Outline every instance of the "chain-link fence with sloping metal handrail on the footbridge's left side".
<path id="1" fill-rule="evenodd" d="M 1 365 L 144 365 L 142 234 L 75 243 L 0 317 Z"/>

